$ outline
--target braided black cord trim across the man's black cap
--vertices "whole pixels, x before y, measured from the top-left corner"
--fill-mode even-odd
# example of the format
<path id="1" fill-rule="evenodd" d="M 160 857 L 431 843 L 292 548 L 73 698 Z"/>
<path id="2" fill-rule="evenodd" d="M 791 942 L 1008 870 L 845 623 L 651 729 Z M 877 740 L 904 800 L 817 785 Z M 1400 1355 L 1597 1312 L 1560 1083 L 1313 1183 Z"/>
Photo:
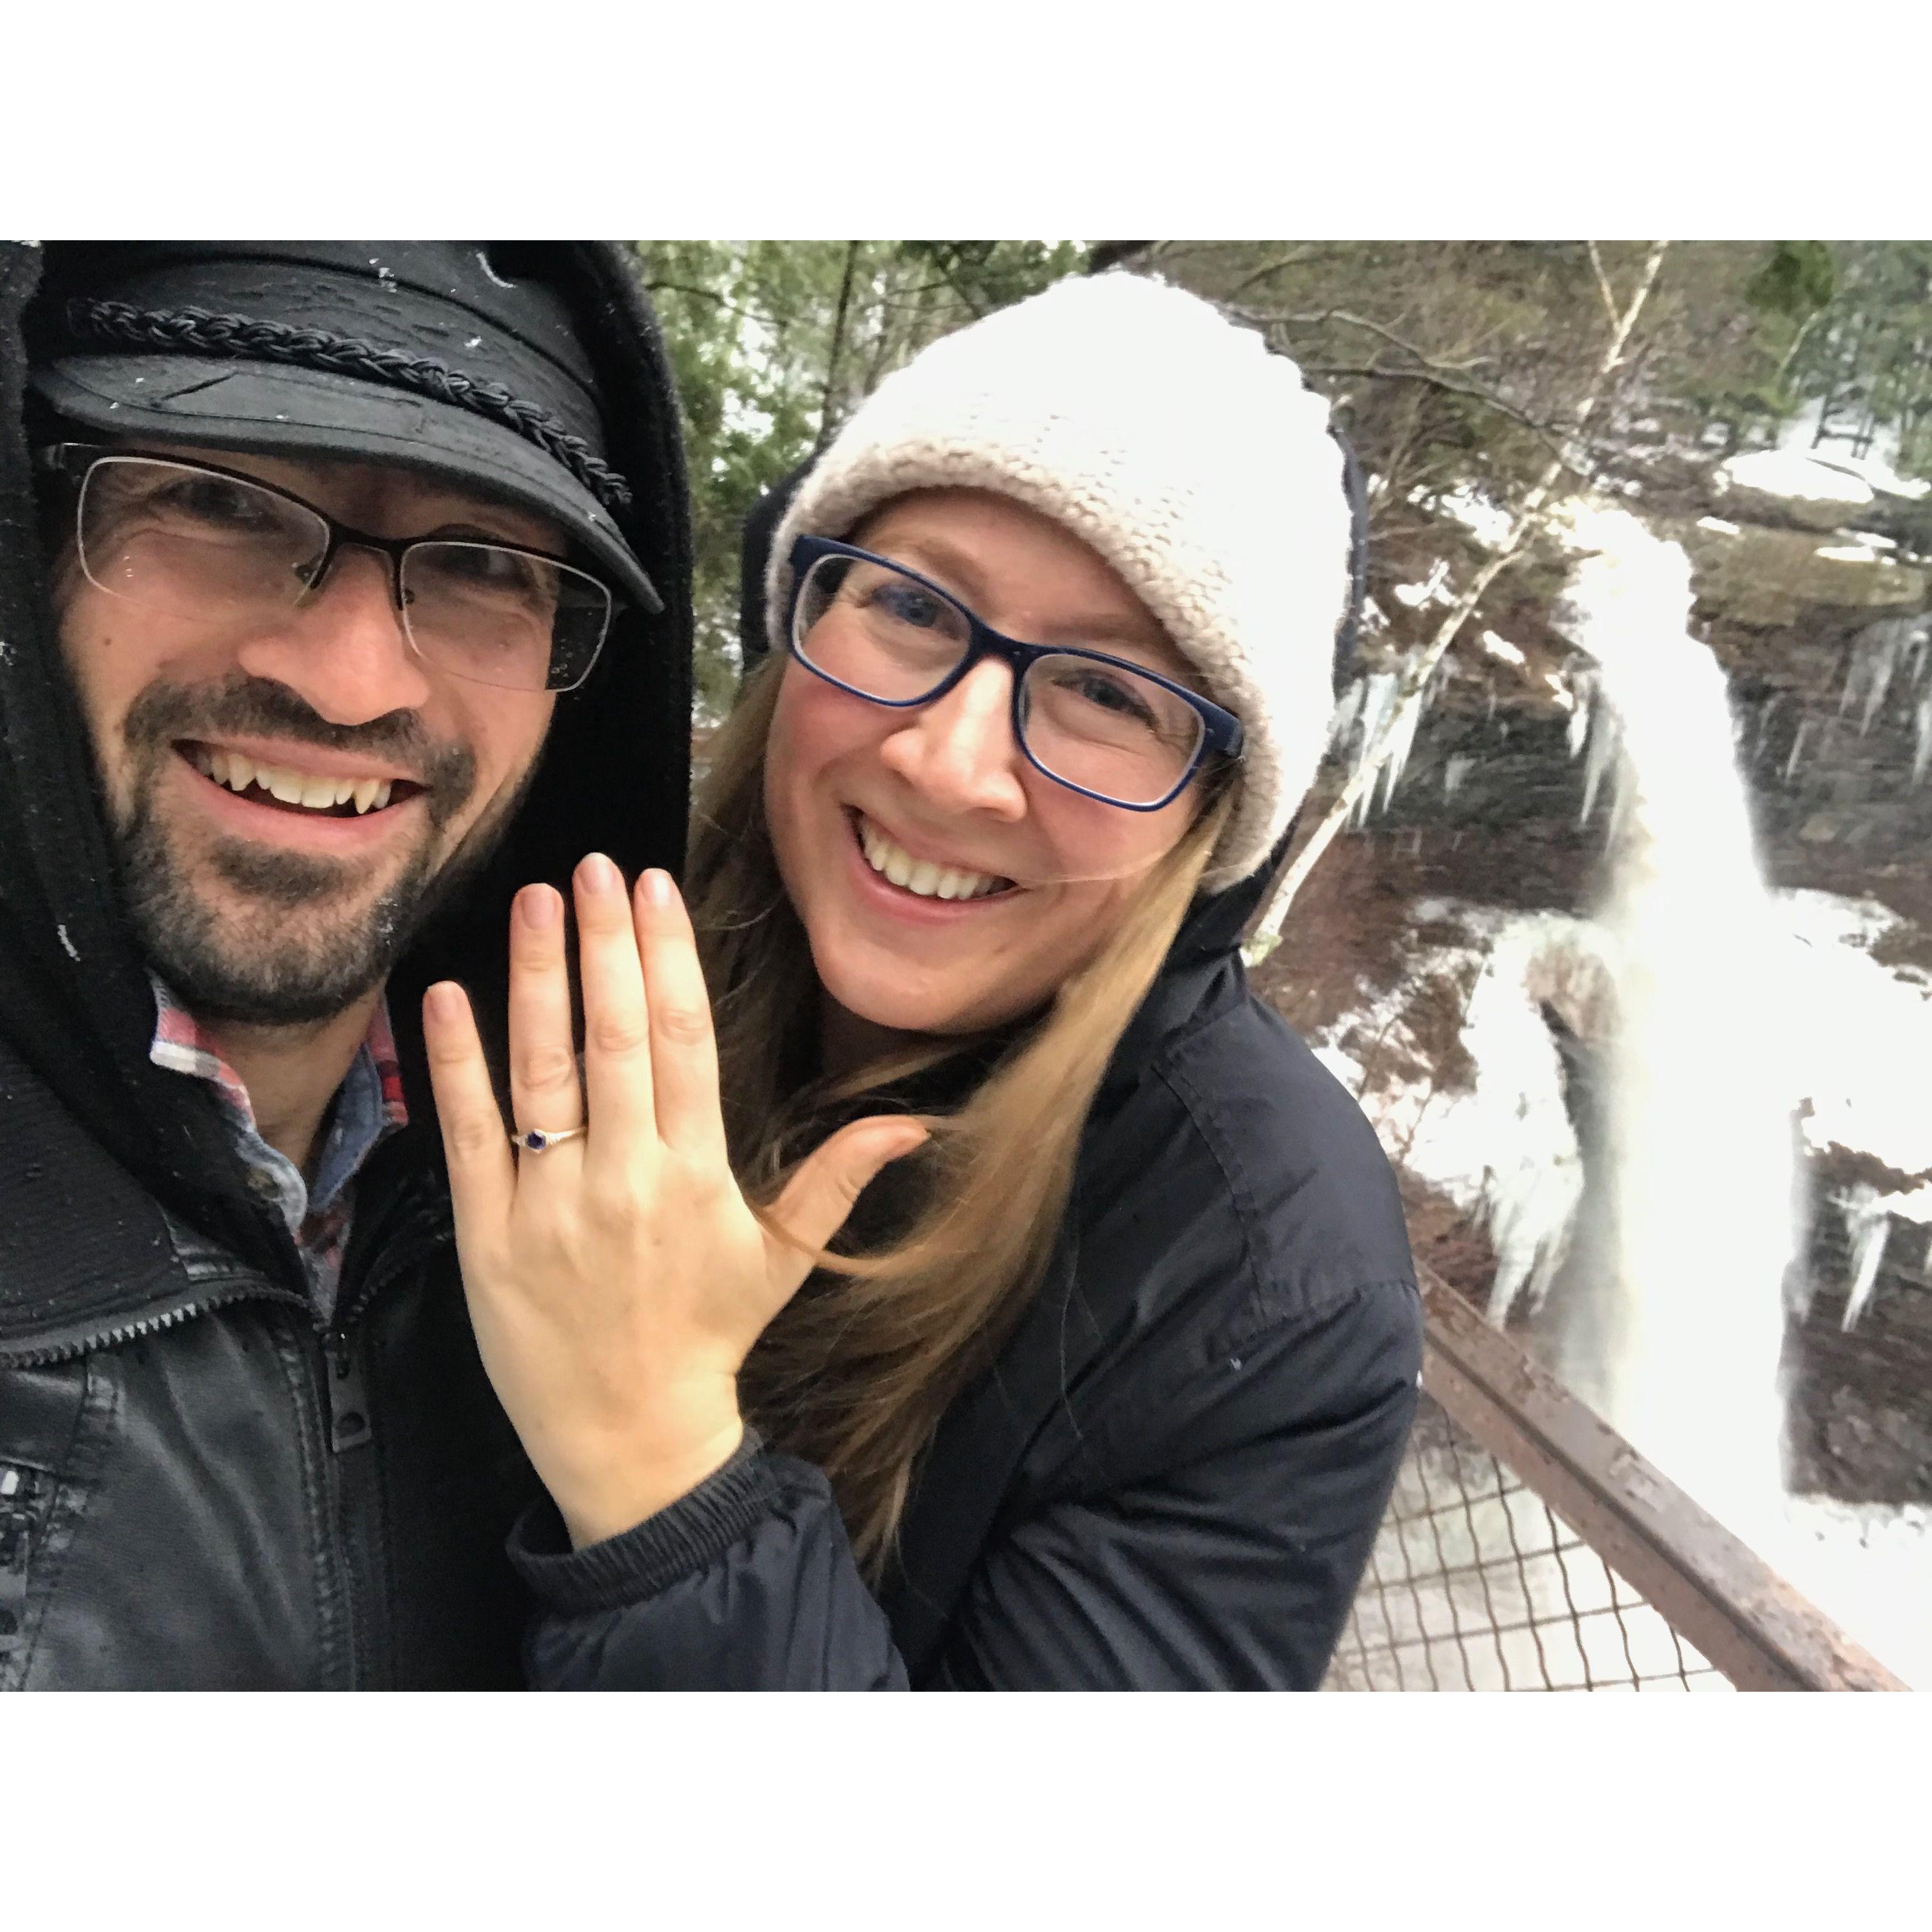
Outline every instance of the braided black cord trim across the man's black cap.
<path id="1" fill-rule="evenodd" d="M 249 321 L 209 309 L 137 309 L 129 301 L 77 299 L 68 303 L 68 328 L 83 340 L 128 342 L 137 348 L 185 350 L 193 355 L 249 355 L 354 375 L 390 388 L 412 388 L 437 402 L 514 429 L 545 456 L 562 464 L 607 510 L 630 506 L 630 485 L 578 435 L 533 402 L 500 383 L 483 383 L 427 355 L 381 350 L 373 342 L 294 323 Z"/>

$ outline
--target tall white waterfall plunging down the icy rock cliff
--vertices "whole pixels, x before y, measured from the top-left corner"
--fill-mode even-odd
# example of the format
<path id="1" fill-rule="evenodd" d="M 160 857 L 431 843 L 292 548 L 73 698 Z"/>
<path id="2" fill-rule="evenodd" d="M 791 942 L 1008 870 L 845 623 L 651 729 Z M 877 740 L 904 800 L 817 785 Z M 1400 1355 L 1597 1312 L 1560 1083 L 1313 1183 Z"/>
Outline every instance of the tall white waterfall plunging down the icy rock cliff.
<path id="1" fill-rule="evenodd" d="M 1571 583 L 1573 638 L 1609 713 L 1592 721 L 1586 790 L 1594 802 L 1611 759 L 1617 786 L 1600 914 L 1617 1012 L 1617 1252 L 1594 1347 L 1563 1372 L 1743 1530 L 1783 1488 L 1793 1146 L 1774 962 L 1789 941 L 1758 866 L 1725 678 L 1689 634 L 1685 553 L 1625 510 L 1578 512 L 1575 543 L 1596 554 Z"/>

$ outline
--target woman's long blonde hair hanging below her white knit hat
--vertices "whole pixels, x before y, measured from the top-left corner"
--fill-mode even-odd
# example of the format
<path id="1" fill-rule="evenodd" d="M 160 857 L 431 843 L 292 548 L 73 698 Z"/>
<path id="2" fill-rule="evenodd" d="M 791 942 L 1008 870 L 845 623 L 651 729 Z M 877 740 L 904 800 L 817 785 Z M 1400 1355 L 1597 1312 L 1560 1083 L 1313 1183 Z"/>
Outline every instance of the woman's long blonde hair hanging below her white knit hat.
<path id="1" fill-rule="evenodd" d="M 895 1192 L 910 1194 L 902 1231 L 856 1256 L 825 1256 L 740 1378 L 759 1430 L 827 1472 L 877 1578 L 941 1414 L 1039 1287 L 1094 1092 L 1180 927 L 1229 796 L 1209 798 L 1140 883 L 1113 943 L 1043 1012 L 999 1037 L 819 1080 L 819 980 L 765 825 L 765 744 L 784 668 L 784 659 L 761 665 L 713 740 L 686 875 L 740 1184 L 769 1204 L 825 1122 L 867 1111 L 864 1095 L 889 1107 L 896 1082 L 962 1045 L 997 1055 L 964 1103 L 931 1122 L 931 1140 L 887 1171 Z"/>

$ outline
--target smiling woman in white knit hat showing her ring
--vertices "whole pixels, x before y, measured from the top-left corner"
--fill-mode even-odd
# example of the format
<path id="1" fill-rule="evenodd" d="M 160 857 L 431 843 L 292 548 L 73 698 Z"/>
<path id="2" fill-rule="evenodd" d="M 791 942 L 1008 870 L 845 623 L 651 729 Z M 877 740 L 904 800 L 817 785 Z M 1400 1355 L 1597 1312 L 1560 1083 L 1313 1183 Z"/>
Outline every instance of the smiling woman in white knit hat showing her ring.
<path id="1" fill-rule="evenodd" d="M 1347 560 L 1258 338 L 1128 276 L 989 317 L 782 518 L 697 945 L 665 873 L 578 869 L 582 1092 L 522 895 L 527 1151 L 431 989 L 477 1341 L 558 1509 L 512 1540 L 535 1683 L 1320 1683 L 1420 1318 L 1374 1136 L 1236 939 Z"/>

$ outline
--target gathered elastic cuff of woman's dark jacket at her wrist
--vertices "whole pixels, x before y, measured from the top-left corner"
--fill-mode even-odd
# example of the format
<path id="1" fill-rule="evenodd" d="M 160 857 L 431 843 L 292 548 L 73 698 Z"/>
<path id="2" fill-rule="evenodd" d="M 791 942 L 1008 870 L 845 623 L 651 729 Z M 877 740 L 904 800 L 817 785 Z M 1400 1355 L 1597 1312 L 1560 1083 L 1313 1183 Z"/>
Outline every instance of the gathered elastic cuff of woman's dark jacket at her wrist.
<path id="1" fill-rule="evenodd" d="M 601 1544 L 572 1549 L 556 1505 L 539 1497 L 510 1530 L 510 1563 L 556 1615 L 622 1609 L 715 1563 L 777 1503 L 765 1443 L 757 1430 L 746 1428 L 723 1468 L 668 1509 Z"/>

